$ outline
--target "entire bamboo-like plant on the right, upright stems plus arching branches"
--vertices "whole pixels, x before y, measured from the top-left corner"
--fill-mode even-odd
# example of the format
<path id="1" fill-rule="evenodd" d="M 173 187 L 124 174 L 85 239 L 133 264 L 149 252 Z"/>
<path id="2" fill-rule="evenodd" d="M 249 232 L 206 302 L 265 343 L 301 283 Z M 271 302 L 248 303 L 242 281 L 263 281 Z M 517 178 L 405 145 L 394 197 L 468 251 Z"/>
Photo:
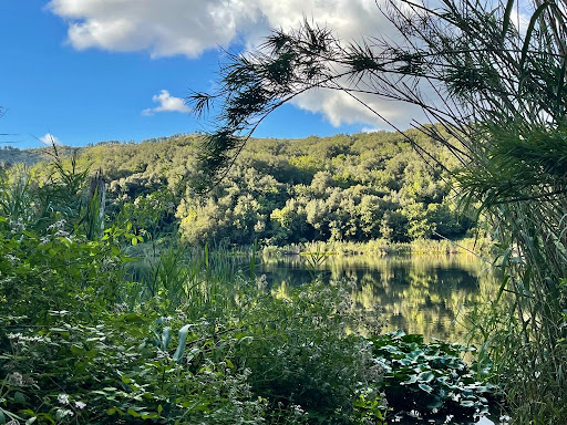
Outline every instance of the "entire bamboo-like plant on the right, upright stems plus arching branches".
<path id="1" fill-rule="evenodd" d="M 524 23 L 520 7 L 530 15 Z M 220 103 L 202 155 L 208 177 L 223 176 L 257 125 L 306 91 L 341 91 L 386 123 L 368 95 L 421 106 L 429 123 L 414 127 L 460 160 L 463 206 L 493 222 L 503 248 L 502 292 L 513 294 L 513 311 L 491 313 L 484 348 L 498 359 L 516 421 L 557 424 L 567 421 L 567 4 L 528 7 L 390 0 L 377 13 L 398 41 L 352 44 L 305 21 L 233 55 L 218 92 L 192 100 L 198 114 Z M 432 166 L 444 166 L 406 137 Z"/>

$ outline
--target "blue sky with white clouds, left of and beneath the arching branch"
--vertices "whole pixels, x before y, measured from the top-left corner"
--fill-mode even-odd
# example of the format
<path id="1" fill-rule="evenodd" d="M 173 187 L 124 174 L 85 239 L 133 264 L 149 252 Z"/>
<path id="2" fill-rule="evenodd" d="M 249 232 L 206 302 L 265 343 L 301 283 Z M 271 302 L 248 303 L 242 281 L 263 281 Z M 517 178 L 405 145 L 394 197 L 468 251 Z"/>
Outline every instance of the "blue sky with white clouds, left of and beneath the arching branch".
<path id="1" fill-rule="evenodd" d="M 0 147 L 142 141 L 206 131 L 190 90 L 208 91 L 225 50 L 308 17 L 344 40 L 384 30 L 374 0 L 0 0 Z M 377 101 L 379 102 L 379 101 Z M 412 111 L 377 105 L 403 125 Z M 341 93 L 308 93 L 258 137 L 388 128 Z"/>

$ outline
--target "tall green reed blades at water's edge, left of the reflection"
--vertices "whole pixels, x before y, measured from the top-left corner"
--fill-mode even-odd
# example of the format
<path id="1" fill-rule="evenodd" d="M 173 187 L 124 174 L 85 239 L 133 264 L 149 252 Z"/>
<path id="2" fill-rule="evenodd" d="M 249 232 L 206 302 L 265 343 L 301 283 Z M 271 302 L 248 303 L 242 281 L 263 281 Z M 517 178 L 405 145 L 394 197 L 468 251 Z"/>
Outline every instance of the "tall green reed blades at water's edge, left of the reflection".
<path id="1" fill-rule="evenodd" d="M 256 250 L 243 256 L 225 246 L 187 246 L 168 237 L 131 247 L 127 276 L 137 282 L 131 301 L 161 299 L 189 319 L 236 314 L 255 281 Z"/>

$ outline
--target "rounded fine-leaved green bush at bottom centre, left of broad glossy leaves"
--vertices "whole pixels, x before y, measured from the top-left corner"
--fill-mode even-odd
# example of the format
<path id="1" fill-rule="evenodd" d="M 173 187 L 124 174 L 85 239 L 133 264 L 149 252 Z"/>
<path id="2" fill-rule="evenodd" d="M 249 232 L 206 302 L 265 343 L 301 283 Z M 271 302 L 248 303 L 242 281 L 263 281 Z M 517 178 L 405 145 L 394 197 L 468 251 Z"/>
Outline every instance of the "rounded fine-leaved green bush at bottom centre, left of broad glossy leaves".
<path id="1" fill-rule="evenodd" d="M 380 398 L 371 345 L 347 330 L 380 331 L 359 314 L 348 286 L 312 283 L 255 313 L 254 341 L 244 354 L 252 390 L 277 406 L 300 406 L 308 423 L 352 424 L 353 397 Z"/>

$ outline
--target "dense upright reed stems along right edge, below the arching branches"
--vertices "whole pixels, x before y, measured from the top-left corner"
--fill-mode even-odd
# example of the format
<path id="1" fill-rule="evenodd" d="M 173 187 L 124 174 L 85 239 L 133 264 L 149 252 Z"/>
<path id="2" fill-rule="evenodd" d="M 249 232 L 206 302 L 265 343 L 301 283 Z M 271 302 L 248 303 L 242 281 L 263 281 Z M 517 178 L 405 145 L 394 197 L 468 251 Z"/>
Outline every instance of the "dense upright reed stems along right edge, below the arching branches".
<path id="1" fill-rule="evenodd" d="M 484 166 L 463 169 L 460 182 L 465 205 L 493 224 L 504 279 L 473 331 L 494 359 L 517 424 L 567 423 L 566 134 L 520 136 L 509 126 L 487 135 L 477 156 Z"/>

